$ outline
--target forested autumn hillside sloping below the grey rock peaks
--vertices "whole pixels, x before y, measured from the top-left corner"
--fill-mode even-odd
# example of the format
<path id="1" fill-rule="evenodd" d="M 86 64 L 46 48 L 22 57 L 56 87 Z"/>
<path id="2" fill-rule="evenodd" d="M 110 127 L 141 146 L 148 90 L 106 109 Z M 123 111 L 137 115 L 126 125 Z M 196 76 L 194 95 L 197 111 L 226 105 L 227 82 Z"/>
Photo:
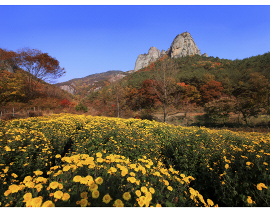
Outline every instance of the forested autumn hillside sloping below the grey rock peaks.
<path id="1" fill-rule="evenodd" d="M 164 103 L 164 90 L 157 89 L 160 80 L 155 74 L 162 68 L 165 78 L 166 74 L 171 74 L 168 64 L 167 69 L 163 67 L 165 60 L 174 65 L 176 71 L 173 82 L 166 88 L 171 92 Z M 234 113 L 247 124 L 250 117 L 269 112 L 269 64 L 269 52 L 241 60 L 199 55 L 165 56 L 117 83 L 91 92 L 84 103 L 103 115 L 122 117 L 141 109 L 162 110 L 164 104 L 172 110 L 202 108 L 209 121 L 226 123 L 229 114 Z"/>

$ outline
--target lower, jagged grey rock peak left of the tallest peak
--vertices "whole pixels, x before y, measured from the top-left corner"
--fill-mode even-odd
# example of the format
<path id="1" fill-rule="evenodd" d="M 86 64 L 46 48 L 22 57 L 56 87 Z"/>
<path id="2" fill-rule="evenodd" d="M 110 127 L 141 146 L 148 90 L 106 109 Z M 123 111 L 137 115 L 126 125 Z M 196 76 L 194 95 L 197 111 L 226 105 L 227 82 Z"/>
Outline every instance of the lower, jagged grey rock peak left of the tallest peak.
<path id="1" fill-rule="evenodd" d="M 139 70 L 147 65 L 149 65 L 151 62 L 157 60 L 160 56 L 160 50 L 158 50 L 156 47 L 150 47 L 147 54 L 139 54 L 138 58 L 135 62 L 135 68 L 134 71 Z"/>

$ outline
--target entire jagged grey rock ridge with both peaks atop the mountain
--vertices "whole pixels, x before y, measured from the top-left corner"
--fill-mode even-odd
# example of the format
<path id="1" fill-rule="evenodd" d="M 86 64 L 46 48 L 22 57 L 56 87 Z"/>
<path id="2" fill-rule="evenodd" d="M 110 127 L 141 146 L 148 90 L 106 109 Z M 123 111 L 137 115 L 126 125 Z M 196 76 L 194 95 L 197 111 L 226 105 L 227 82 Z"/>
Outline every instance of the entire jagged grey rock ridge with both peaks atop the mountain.
<path id="1" fill-rule="evenodd" d="M 139 70 L 147 65 L 149 65 L 152 61 L 156 61 L 157 59 L 168 55 L 169 57 L 182 57 L 186 55 L 198 54 L 201 55 L 200 50 L 190 33 L 183 32 L 178 34 L 174 40 L 172 41 L 170 47 L 165 50 L 158 50 L 156 47 L 150 47 L 148 53 L 139 54 L 137 60 L 135 62 L 134 70 L 127 71 L 128 73 L 132 73 L 136 70 Z M 203 56 L 207 56 L 206 53 Z"/>

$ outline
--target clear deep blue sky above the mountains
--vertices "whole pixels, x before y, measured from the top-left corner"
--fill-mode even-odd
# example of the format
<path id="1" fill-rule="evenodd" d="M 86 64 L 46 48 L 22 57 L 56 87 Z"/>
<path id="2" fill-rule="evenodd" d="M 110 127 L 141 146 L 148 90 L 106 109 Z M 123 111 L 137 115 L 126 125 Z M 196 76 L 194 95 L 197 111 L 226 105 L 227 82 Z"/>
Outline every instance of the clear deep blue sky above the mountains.
<path id="1" fill-rule="evenodd" d="M 0 48 L 55 57 L 58 82 L 134 69 L 138 54 L 188 31 L 201 53 L 242 59 L 270 50 L 270 5 L 0 5 Z"/>

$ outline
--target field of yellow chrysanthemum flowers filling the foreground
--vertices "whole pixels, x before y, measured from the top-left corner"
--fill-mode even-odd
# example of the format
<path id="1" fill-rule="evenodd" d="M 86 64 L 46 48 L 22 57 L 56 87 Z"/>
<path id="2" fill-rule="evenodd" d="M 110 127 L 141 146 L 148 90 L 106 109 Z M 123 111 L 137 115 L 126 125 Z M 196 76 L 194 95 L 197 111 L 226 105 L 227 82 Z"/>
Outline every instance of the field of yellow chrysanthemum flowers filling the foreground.
<path id="1" fill-rule="evenodd" d="M 0 206 L 269 206 L 270 134 L 72 114 L 0 122 Z"/>

